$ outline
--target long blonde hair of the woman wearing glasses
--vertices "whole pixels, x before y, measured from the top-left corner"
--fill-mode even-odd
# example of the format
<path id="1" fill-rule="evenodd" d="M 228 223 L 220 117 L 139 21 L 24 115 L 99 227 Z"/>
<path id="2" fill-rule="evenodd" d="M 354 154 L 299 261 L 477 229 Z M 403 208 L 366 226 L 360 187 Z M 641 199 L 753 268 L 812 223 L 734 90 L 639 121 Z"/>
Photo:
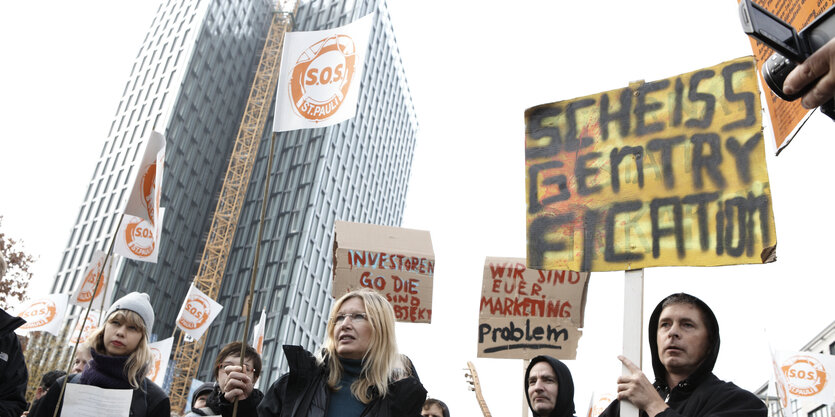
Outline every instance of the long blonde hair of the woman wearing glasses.
<path id="1" fill-rule="evenodd" d="M 369 388 L 374 387 L 380 397 L 385 397 L 388 393 L 389 382 L 412 374 L 411 362 L 397 351 L 397 339 L 394 335 L 394 309 L 391 304 L 373 290 L 367 288 L 354 290 L 343 295 L 333 304 L 325 344 L 322 346 L 322 352 L 317 355 L 319 364 L 326 365 L 330 370 L 328 386 L 333 390 L 339 389 L 343 369 L 336 353 L 337 343 L 333 338 L 333 331 L 336 327 L 336 314 L 342 308 L 342 304 L 351 298 L 362 300 L 368 315 L 368 324 L 371 325 L 372 330 L 368 351 L 362 358 L 362 371 L 359 378 L 351 384 L 351 393 L 354 397 L 363 404 L 368 404 L 374 399 L 374 392 Z"/>

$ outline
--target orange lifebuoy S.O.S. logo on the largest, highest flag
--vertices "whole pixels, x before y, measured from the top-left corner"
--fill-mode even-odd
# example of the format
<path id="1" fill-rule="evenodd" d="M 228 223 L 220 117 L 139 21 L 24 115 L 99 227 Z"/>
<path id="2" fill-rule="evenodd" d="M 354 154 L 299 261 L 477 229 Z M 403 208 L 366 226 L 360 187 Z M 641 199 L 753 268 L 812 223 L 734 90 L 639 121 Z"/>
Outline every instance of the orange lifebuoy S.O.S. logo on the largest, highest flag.
<path id="1" fill-rule="evenodd" d="M 336 35 L 302 52 L 290 76 L 290 99 L 307 120 L 321 121 L 339 110 L 354 78 L 354 40 Z"/>

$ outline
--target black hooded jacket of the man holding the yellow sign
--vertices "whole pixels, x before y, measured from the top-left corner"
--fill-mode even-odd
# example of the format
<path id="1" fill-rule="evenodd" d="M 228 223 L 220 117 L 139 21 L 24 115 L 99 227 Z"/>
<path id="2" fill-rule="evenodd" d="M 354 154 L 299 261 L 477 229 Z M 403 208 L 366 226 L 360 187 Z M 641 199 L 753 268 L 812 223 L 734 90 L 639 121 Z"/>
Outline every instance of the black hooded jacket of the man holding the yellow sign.
<path id="1" fill-rule="evenodd" d="M 675 387 L 667 386 L 667 369 L 658 357 L 658 319 L 664 309 L 664 302 L 673 296 L 686 297 L 701 311 L 708 330 L 709 346 L 705 359 L 690 376 Z M 713 374 L 713 366 L 719 356 L 719 322 L 710 307 L 702 300 L 687 294 L 673 294 L 655 307 L 649 319 L 649 346 L 652 354 L 652 369 L 655 372 L 655 390 L 666 400 L 669 408 L 658 413 L 658 417 L 766 417 L 767 408 L 754 394 L 739 388 L 732 382 L 720 380 Z M 646 416 L 641 411 L 642 416 Z M 601 417 L 620 416 L 618 400 L 612 402 Z"/>

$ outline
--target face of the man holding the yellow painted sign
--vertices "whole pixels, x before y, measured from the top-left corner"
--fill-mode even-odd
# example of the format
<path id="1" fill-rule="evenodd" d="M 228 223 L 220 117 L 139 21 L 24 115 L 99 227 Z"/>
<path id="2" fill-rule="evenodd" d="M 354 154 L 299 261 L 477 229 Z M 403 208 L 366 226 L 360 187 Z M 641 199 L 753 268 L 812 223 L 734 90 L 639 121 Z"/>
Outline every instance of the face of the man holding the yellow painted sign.
<path id="1" fill-rule="evenodd" d="M 658 359 L 667 372 L 683 378 L 702 363 L 708 350 L 708 331 L 701 311 L 692 304 L 664 307 L 658 319 Z"/>

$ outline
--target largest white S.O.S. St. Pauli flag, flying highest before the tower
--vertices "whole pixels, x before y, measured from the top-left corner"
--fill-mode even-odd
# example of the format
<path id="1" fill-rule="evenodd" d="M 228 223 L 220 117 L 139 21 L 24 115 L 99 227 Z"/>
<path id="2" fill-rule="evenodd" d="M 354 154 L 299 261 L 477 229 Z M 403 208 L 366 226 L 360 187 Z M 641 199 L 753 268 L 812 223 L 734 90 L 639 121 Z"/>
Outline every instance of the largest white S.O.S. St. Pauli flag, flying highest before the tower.
<path id="1" fill-rule="evenodd" d="M 354 117 L 374 15 L 329 30 L 284 35 L 274 132 Z"/>

